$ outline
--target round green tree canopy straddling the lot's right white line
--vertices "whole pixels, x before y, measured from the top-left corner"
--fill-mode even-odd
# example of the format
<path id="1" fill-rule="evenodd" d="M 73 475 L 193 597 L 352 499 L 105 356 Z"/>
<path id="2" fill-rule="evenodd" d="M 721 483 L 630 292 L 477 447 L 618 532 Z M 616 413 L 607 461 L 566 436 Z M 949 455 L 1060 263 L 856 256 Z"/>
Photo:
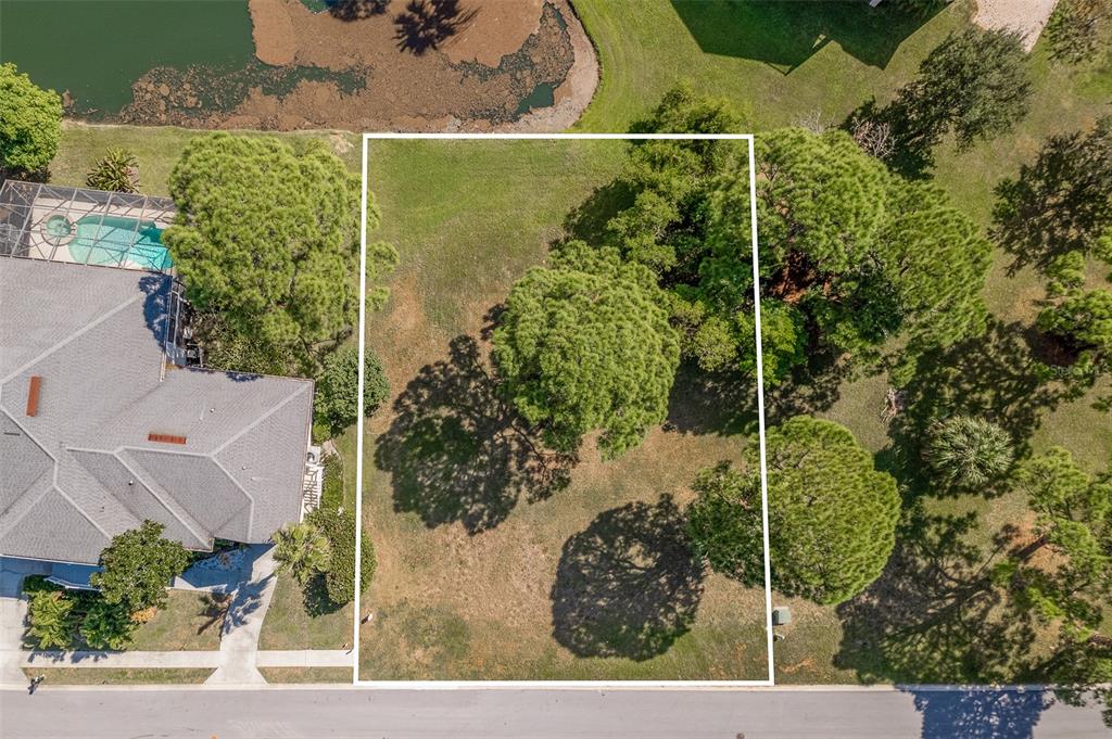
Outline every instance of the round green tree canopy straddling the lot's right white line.
<path id="1" fill-rule="evenodd" d="M 766 438 L 773 587 L 824 605 L 852 598 L 895 546 L 895 480 L 833 421 L 796 416 Z M 745 472 L 728 465 L 701 472 L 688 509 L 696 553 L 752 586 L 764 578 L 758 453 L 752 445 Z"/>

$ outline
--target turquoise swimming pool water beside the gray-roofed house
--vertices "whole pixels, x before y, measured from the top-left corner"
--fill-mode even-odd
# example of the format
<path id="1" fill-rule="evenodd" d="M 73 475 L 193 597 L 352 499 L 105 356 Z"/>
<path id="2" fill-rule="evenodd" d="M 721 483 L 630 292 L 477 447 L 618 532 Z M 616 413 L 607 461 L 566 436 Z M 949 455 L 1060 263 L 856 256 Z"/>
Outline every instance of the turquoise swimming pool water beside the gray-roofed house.
<path id="1" fill-rule="evenodd" d="M 85 216 L 77 221 L 77 233 L 69 242 L 70 253 L 79 262 L 119 264 L 166 271 L 173 261 L 162 246 L 162 229 L 153 221 L 118 216 Z"/>

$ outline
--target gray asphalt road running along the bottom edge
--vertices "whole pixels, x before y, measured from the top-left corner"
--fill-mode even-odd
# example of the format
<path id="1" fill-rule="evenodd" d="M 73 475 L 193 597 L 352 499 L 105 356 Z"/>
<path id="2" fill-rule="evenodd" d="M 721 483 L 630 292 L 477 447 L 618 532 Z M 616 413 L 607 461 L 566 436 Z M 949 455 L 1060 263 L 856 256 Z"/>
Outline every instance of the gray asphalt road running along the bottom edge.
<path id="1" fill-rule="evenodd" d="M 4 739 L 1086 739 L 1100 712 L 1014 690 L 51 689 L 0 692 Z"/>

